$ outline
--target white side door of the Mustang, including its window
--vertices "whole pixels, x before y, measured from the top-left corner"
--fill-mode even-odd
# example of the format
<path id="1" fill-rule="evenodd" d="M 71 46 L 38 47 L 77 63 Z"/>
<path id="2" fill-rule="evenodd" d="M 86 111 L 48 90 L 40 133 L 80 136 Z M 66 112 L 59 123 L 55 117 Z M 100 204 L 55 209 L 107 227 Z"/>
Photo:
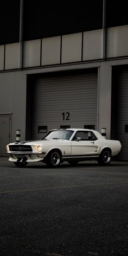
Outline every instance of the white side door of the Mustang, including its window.
<path id="1" fill-rule="evenodd" d="M 77 131 L 72 144 L 72 155 L 84 156 L 94 155 L 97 152 L 97 138 L 91 131 Z"/>

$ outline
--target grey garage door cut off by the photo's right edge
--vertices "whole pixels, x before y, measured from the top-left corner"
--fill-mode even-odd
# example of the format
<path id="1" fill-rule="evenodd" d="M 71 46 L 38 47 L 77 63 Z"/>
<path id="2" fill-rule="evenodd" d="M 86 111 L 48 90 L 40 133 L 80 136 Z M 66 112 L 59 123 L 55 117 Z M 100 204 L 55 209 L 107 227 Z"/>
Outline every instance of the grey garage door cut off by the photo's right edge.
<path id="1" fill-rule="evenodd" d="M 118 78 L 118 110 L 117 110 L 117 139 L 120 140 L 122 149 L 119 159 L 128 159 L 128 68 L 119 72 Z"/>

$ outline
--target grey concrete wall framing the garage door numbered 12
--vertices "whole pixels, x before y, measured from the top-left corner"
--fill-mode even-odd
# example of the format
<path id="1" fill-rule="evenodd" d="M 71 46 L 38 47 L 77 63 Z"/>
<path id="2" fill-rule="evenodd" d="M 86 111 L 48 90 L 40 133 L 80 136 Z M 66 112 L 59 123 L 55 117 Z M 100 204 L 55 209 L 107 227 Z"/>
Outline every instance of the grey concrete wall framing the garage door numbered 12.
<path id="1" fill-rule="evenodd" d="M 0 113 L 12 113 L 11 140 L 16 140 L 17 129 L 21 130 L 21 140 L 25 139 L 27 74 L 91 67 L 99 67 L 99 131 L 102 127 L 106 127 L 107 137 L 109 138 L 111 129 L 111 66 L 109 62 L 96 62 L 0 73 Z"/>

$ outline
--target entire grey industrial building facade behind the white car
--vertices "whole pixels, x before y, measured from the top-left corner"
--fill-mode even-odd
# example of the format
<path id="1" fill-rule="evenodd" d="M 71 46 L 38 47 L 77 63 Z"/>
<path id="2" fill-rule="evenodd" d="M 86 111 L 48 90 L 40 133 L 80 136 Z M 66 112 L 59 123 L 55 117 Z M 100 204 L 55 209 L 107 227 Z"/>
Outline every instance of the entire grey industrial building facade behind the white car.
<path id="1" fill-rule="evenodd" d="M 0 156 L 16 130 L 104 127 L 127 160 L 126 1 L 1 0 L 0 12 Z"/>

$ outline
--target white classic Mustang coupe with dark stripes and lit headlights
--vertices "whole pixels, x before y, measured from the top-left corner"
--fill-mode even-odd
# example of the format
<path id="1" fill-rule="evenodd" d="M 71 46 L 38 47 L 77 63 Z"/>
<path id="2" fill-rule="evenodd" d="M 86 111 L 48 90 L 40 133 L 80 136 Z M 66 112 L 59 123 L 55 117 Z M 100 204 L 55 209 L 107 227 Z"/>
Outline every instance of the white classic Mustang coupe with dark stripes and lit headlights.
<path id="1" fill-rule="evenodd" d="M 107 165 L 120 150 L 118 140 L 107 140 L 98 131 L 87 129 L 51 130 L 41 140 L 7 145 L 9 161 L 17 167 L 39 161 L 49 167 L 57 167 L 63 161 L 75 165 L 88 159 L 97 159 L 99 164 Z"/>

